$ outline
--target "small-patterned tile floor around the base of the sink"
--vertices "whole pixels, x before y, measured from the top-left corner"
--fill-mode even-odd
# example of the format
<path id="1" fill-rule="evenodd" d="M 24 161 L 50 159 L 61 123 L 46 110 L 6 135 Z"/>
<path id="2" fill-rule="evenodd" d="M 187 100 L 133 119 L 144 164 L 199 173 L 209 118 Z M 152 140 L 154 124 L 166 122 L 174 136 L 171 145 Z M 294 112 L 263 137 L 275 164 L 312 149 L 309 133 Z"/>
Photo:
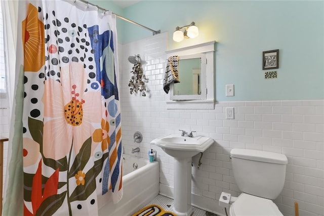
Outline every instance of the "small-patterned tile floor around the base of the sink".
<path id="1" fill-rule="evenodd" d="M 152 204 L 157 204 L 161 207 L 163 207 L 166 211 L 172 211 L 173 209 L 173 199 L 170 199 L 168 197 L 162 196 L 162 195 L 157 195 L 153 200 L 151 200 L 149 203 L 147 203 L 145 206 L 152 205 Z M 145 207 L 143 206 L 143 207 Z M 216 214 L 210 214 L 210 212 L 207 212 L 205 210 L 192 207 L 193 208 L 193 214 L 192 216 L 206 216 L 206 215 L 215 215 Z"/>

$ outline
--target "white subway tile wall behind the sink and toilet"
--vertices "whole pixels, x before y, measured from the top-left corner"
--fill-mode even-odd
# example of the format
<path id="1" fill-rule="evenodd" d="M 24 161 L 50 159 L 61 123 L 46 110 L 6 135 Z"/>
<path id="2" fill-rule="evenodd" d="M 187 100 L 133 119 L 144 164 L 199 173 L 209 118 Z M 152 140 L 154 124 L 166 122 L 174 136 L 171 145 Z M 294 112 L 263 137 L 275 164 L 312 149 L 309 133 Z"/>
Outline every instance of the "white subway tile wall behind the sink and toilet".
<path id="1" fill-rule="evenodd" d="M 121 125 L 125 153 L 140 147 L 135 155 L 147 158 L 150 148 L 160 162 L 160 188 L 173 187 L 173 158 L 150 141 L 161 135 L 195 130 L 195 135 L 210 136 L 215 143 L 193 157 L 192 193 L 194 204 L 224 213 L 218 206 L 222 191 L 239 195 L 229 153 L 232 148 L 257 149 L 287 155 L 284 190 L 275 200 L 284 215 L 294 215 L 294 202 L 300 215 L 324 214 L 324 100 L 217 102 L 214 110 L 167 110 L 163 77 L 168 33 L 119 45 Z M 149 79 L 147 96 L 129 93 L 132 64 L 128 56 L 140 54 Z M 238 85 L 238 84 L 236 84 Z M 234 107 L 233 120 L 225 118 L 226 107 Z M 133 140 L 135 131 L 143 141 Z M 207 200 L 207 201 L 206 201 Z M 209 203 L 203 206 L 202 203 Z M 211 204 L 212 203 L 212 204 Z M 214 203 L 214 204 L 213 204 Z M 199 206 L 198 205 L 198 206 Z"/>

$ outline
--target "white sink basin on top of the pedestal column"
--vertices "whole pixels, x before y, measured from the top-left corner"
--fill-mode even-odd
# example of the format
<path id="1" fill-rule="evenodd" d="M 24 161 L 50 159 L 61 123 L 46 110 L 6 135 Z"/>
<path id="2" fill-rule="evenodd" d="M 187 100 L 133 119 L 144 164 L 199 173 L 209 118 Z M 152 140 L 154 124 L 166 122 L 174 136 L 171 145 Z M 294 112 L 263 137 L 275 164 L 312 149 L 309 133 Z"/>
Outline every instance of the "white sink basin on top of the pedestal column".
<path id="1" fill-rule="evenodd" d="M 168 155 L 174 158 L 189 158 L 206 151 L 214 140 L 209 137 L 195 136 L 186 137 L 179 134 L 161 136 L 151 141 Z"/>

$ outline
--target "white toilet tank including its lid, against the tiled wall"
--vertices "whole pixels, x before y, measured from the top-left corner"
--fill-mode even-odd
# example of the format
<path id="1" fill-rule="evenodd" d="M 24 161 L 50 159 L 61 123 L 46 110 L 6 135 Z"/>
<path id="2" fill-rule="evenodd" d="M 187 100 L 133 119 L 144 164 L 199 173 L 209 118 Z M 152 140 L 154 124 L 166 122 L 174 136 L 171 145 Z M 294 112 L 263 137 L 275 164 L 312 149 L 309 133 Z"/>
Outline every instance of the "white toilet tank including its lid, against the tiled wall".
<path id="1" fill-rule="evenodd" d="M 230 155 L 240 191 L 267 199 L 279 196 L 285 184 L 286 155 L 249 149 L 232 149 Z"/>

